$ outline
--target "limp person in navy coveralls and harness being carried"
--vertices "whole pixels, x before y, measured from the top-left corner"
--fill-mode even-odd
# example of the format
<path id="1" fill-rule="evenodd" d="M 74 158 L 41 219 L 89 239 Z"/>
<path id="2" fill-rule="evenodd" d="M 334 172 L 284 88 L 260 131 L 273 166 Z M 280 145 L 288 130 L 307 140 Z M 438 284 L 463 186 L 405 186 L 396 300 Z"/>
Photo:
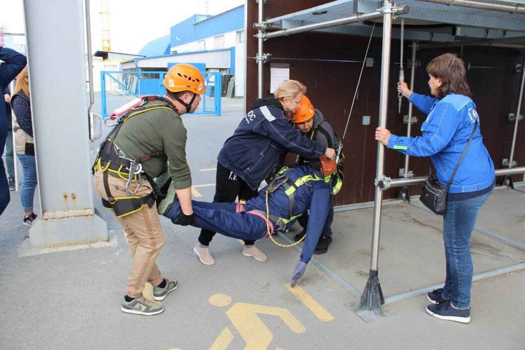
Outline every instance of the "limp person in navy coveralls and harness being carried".
<path id="1" fill-rule="evenodd" d="M 291 227 L 302 213 L 310 210 L 300 260 L 291 279 L 291 285 L 295 286 L 306 270 L 327 218 L 332 191 L 330 180 L 335 169 L 335 161 L 322 156 L 311 160 L 308 166 L 281 169 L 257 197 L 244 205 L 192 201 L 195 221 L 191 225 L 255 241 Z M 166 198 L 164 201 L 171 202 L 165 216 L 181 224 L 178 200 Z"/>

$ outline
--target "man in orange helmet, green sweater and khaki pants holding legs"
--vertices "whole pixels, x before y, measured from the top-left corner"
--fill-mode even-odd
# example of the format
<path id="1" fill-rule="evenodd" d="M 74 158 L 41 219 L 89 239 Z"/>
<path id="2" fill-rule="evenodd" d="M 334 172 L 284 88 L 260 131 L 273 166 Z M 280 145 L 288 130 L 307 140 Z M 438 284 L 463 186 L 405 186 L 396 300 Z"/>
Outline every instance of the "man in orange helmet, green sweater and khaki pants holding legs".
<path id="1" fill-rule="evenodd" d="M 177 287 L 176 280 L 163 278 L 155 263 L 164 235 L 154 205 L 160 192 L 153 178 L 169 174 L 182 209 L 178 214 L 180 224 L 194 222 L 186 129 L 181 115 L 197 108 L 205 91 L 204 78 L 197 68 L 177 64 L 167 72 L 164 86 L 164 97 L 149 98 L 119 118 L 93 166 L 95 188 L 104 207 L 113 209 L 124 228 L 133 257 L 121 306 L 123 312 L 131 314 L 164 311 L 160 303 L 142 295 L 146 281 L 153 285 L 155 301 L 164 300 Z"/>

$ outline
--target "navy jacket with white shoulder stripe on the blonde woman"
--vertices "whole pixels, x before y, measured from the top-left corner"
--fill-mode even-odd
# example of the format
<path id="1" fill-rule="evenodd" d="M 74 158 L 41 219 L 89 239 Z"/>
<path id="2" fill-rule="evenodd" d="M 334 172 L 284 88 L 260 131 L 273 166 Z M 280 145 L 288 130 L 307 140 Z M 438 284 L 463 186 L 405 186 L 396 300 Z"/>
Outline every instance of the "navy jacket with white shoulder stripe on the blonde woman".
<path id="1" fill-rule="evenodd" d="M 217 161 L 256 190 L 284 148 L 307 158 L 324 155 L 326 147 L 309 140 L 288 122 L 275 98 L 258 99 L 224 142 Z"/>

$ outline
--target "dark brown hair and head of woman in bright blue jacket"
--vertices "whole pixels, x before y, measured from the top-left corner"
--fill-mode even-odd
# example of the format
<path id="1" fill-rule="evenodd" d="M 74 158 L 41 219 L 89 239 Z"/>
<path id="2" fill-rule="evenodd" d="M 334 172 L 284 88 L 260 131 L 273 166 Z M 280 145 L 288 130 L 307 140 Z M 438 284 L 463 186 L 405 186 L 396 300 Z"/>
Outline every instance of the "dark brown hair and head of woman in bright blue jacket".
<path id="1" fill-rule="evenodd" d="M 467 83 L 465 63 L 456 54 L 437 56 L 428 63 L 426 71 L 442 81 L 437 97 L 443 98 L 449 94 L 472 96 Z"/>

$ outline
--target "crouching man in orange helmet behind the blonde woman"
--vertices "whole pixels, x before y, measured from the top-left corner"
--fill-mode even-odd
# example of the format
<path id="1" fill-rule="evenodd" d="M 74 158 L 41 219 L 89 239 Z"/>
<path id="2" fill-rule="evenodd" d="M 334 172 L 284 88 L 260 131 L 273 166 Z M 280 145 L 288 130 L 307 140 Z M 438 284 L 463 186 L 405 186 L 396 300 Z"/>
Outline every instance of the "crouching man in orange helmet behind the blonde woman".
<path id="1" fill-rule="evenodd" d="M 308 137 L 310 140 L 319 143 L 319 145 L 338 149 L 340 140 L 334 134 L 331 125 L 328 121 L 324 120 L 323 115 L 320 110 L 313 108 L 312 102 L 308 97 L 304 96 L 301 98 L 299 108 L 295 110 L 290 115 L 290 120 L 293 122 L 295 128 L 297 128 L 301 133 Z M 279 159 L 277 161 L 277 166 L 275 169 L 280 169 L 284 163 L 286 153 L 281 152 Z M 296 164 L 298 166 L 308 164 L 309 162 L 317 160 L 309 160 L 304 157 L 298 156 Z M 332 194 L 337 194 L 342 186 L 343 180 L 343 171 L 342 166 L 344 162 L 344 157 L 341 154 L 338 169 L 334 173 L 331 179 Z M 297 221 L 303 227 L 303 230 L 296 234 L 293 238 L 295 241 L 299 241 L 304 234 L 307 232 L 308 226 L 308 213 L 305 212 Z M 324 223 L 323 230 L 319 237 L 319 241 L 314 250 L 314 254 L 324 254 L 328 251 L 330 243 L 332 243 L 332 221 L 333 221 L 333 204 L 330 201 L 330 207 L 328 208 L 327 219 Z"/>

